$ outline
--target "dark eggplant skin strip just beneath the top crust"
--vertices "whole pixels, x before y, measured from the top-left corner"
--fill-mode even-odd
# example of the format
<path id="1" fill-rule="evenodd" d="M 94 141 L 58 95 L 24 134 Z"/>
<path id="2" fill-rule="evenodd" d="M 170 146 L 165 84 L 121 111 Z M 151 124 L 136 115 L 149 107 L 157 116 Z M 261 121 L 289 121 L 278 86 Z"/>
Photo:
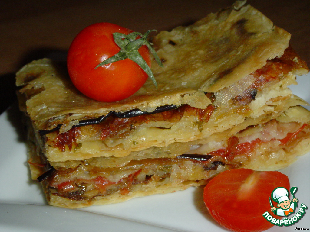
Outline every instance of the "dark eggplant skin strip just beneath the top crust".
<path id="1" fill-rule="evenodd" d="M 144 115 L 144 114 L 156 114 L 156 113 L 161 113 L 161 112 L 168 111 L 168 110 L 174 110 L 174 109 L 177 109 L 178 107 L 179 107 L 179 105 L 162 105 L 162 106 L 158 106 L 152 112 L 142 111 L 139 109 L 133 109 L 133 110 L 129 110 L 126 112 L 110 111 L 108 114 L 102 115 L 99 118 L 91 118 L 91 119 L 81 120 L 81 121 L 79 121 L 79 123 L 77 125 L 74 125 L 73 127 L 82 127 L 82 126 L 87 126 L 87 125 L 98 124 L 98 123 L 104 121 L 106 118 L 108 118 L 111 115 L 113 115 L 117 118 L 131 118 L 131 117 Z M 43 135 L 46 135 L 46 134 L 51 133 L 53 131 L 57 131 L 60 129 L 60 127 L 61 127 L 61 124 L 57 125 L 57 127 L 53 128 L 51 130 L 46 130 L 46 131 L 41 130 L 41 131 L 39 131 L 39 135 L 43 136 Z"/>

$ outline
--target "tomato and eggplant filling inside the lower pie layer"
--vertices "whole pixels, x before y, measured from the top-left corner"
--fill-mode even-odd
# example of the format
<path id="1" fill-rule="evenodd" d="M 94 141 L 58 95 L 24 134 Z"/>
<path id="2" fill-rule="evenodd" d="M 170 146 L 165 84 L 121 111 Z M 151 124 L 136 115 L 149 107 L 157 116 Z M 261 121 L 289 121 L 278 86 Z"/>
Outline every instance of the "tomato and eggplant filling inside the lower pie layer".
<path id="1" fill-rule="evenodd" d="M 188 154 L 175 158 L 132 160 L 124 167 L 113 168 L 100 168 L 84 160 L 76 168 L 51 170 L 45 174 L 42 184 L 53 195 L 90 201 L 116 192 L 127 195 L 135 187 L 151 182 L 155 186 L 178 186 L 188 181 L 204 184 L 223 170 L 242 167 L 263 151 L 290 150 L 308 138 L 309 131 L 306 123 L 271 120 L 211 144 L 214 150 L 210 150 L 210 144 L 197 144 Z"/>

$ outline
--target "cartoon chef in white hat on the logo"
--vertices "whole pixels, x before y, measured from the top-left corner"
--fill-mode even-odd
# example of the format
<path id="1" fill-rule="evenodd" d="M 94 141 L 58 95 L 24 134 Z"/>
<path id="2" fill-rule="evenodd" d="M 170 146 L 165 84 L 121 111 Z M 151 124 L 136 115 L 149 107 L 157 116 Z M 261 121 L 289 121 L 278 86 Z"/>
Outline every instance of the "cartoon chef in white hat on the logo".
<path id="1" fill-rule="evenodd" d="M 294 195 L 293 195 L 294 197 Z M 273 201 L 277 202 L 277 207 L 272 207 L 271 211 L 278 216 L 288 216 L 294 213 L 294 209 L 297 206 L 297 198 L 293 200 L 289 199 L 289 191 L 283 187 L 275 188 L 271 193 L 271 198 Z"/>

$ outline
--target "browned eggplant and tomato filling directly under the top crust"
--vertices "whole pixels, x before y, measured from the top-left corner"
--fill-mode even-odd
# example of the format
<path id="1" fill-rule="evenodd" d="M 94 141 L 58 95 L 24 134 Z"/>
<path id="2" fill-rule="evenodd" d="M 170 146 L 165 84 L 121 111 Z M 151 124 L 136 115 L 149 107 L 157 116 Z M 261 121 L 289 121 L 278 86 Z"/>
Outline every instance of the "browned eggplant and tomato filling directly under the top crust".
<path id="1" fill-rule="evenodd" d="M 194 116 L 197 118 L 197 125 L 195 126 L 198 127 L 199 131 L 202 131 L 203 123 L 208 122 L 211 115 L 215 114 L 217 110 L 217 106 L 214 104 L 215 97 L 216 99 L 221 99 L 221 104 L 227 105 L 228 102 L 228 107 L 231 109 L 243 109 L 243 111 L 246 111 L 245 114 L 248 114 L 249 110 L 244 110 L 244 107 L 255 100 L 255 96 L 260 90 L 278 82 L 290 71 L 302 66 L 302 63 L 298 62 L 299 59 L 295 58 L 296 54 L 289 47 L 280 58 L 268 60 L 264 67 L 246 76 L 244 78 L 245 81 L 238 82 L 238 86 L 233 85 L 217 93 L 206 93 L 206 96 L 212 102 L 206 109 L 198 109 L 189 105 L 167 105 L 157 108 L 157 110 L 151 113 L 137 109 L 123 113 L 111 111 L 100 118 L 81 120 L 78 125 L 64 133 L 59 133 L 59 128 L 56 127 L 51 131 L 40 131 L 40 134 L 44 135 L 45 143 L 48 146 L 58 148 L 64 152 L 66 149 L 71 151 L 72 148 L 80 146 L 81 144 L 77 143 L 78 139 L 84 141 L 124 139 L 142 124 L 150 122 L 165 121 L 168 124 L 170 123 L 170 126 L 167 124 L 167 128 L 170 128 L 182 118 Z M 247 81 L 249 79 L 251 79 L 250 84 Z M 241 89 L 241 91 L 232 92 L 233 89 Z M 224 101 L 227 102 L 224 103 Z"/>

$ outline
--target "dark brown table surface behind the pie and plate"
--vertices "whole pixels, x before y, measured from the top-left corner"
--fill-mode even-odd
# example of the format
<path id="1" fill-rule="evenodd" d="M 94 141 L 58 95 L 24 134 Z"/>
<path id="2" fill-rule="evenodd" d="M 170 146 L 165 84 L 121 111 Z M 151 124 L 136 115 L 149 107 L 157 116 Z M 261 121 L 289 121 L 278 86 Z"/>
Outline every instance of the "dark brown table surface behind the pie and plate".
<path id="1" fill-rule="evenodd" d="M 0 113 L 15 97 L 15 72 L 43 57 L 65 59 L 75 35 L 97 22 L 134 31 L 170 30 L 187 25 L 233 0 L 10 0 L 0 6 Z M 248 0 L 273 23 L 292 34 L 291 45 L 310 66 L 310 1 Z"/>

